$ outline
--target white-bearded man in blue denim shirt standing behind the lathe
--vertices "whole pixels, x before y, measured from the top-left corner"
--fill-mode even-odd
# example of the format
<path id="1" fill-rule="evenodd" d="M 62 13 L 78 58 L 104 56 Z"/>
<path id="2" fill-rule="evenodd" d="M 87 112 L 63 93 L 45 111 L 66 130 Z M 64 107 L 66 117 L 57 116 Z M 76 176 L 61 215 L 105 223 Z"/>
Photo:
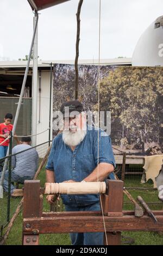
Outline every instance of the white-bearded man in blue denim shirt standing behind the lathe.
<path id="1" fill-rule="evenodd" d="M 68 111 L 67 111 L 68 110 Z M 60 111 L 64 130 L 53 140 L 46 166 L 46 182 L 95 182 L 114 179 L 111 139 L 101 129 L 86 125 L 78 100 L 66 101 Z M 99 138 L 99 139 L 98 139 Z M 100 211 L 99 194 L 61 194 L 66 211 Z M 47 201 L 53 204 L 54 195 Z M 72 245 L 103 245 L 103 233 L 71 233 Z"/>

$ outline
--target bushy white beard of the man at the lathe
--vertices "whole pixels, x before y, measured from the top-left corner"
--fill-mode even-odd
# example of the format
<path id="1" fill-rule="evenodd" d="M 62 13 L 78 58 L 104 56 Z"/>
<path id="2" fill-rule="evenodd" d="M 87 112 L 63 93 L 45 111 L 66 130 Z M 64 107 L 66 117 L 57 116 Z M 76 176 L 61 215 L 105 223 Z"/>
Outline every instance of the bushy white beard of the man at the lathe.
<path id="1" fill-rule="evenodd" d="M 62 139 L 68 146 L 77 146 L 80 142 L 83 141 L 86 135 L 86 130 L 77 130 L 76 132 L 71 132 L 64 130 L 62 132 Z"/>

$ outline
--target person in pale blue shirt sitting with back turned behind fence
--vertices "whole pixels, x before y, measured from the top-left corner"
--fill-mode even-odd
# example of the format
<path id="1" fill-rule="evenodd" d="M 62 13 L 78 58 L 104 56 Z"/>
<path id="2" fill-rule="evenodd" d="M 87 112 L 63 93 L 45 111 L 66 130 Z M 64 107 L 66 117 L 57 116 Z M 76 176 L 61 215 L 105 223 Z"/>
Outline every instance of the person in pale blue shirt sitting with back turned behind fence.
<path id="1" fill-rule="evenodd" d="M 39 155 L 37 151 L 30 146 L 31 138 L 22 137 L 21 144 L 16 145 L 12 149 L 12 172 L 11 182 L 24 183 L 24 180 L 32 180 L 37 170 Z M 27 150 L 28 149 L 28 150 Z M 23 150 L 26 150 L 22 152 Z M 1 176 L 1 173 L 0 173 Z M 8 177 L 7 170 L 4 175 L 3 189 L 8 191 Z M 11 194 L 15 190 L 15 186 L 11 184 Z"/>

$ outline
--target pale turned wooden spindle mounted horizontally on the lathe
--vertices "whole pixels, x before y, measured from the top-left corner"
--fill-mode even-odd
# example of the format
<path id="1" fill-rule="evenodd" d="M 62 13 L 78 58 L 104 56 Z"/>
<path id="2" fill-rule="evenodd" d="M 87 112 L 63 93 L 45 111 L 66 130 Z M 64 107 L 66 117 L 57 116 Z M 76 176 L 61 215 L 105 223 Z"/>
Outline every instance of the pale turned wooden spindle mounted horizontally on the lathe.
<path id="1" fill-rule="evenodd" d="M 98 194 L 106 192 L 105 182 L 45 183 L 45 194 Z"/>

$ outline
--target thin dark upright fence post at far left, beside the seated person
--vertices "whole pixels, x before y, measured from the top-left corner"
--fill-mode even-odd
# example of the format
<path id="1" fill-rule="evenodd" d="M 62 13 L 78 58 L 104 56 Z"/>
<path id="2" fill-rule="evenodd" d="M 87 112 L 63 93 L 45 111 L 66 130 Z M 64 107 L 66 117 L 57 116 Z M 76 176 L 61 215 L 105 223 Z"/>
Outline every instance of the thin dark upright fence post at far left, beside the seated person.
<path id="1" fill-rule="evenodd" d="M 10 199 L 11 199 L 11 159 L 12 159 L 12 132 L 10 133 L 10 143 L 9 143 L 9 169 L 8 169 L 8 172 L 9 172 L 9 176 L 8 176 L 8 208 L 7 208 L 7 222 L 10 221 Z M 6 169 L 6 168 L 5 168 Z"/>

